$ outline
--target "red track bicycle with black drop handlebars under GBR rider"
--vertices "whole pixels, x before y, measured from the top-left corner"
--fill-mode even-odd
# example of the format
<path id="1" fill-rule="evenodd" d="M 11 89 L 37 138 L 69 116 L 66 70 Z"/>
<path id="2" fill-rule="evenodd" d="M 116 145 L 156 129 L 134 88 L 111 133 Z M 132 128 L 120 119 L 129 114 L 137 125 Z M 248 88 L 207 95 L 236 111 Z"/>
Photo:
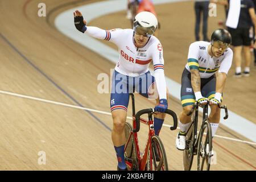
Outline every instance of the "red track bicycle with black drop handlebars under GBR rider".
<path id="1" fill-rule="evenodd" d="M 135 114 L 134 94 L 130 94 L 133 107 L 133 127 L 130 123 L 125 123 L 125 161 L 126 166 L 130 170 L 135 171 L 168 171 L 168 163 L 166 151 L 158 135 L 155 135 L 154 121 L 152 114 L 154 109 L 143 109 Z M 170 114 L 174 119 L 174 126 L 170 127 L 171 130 L 177 128 L 177 115 L 174 111 L 167 109 L 167 114 Z M 142 114 L 148 114 L 148 120 L 141 118 Z M 140 129 L 140 122 L 148 125 L 148 139 L 146 147 L 141 155 L 138 144 L 137 132 Z"/>

